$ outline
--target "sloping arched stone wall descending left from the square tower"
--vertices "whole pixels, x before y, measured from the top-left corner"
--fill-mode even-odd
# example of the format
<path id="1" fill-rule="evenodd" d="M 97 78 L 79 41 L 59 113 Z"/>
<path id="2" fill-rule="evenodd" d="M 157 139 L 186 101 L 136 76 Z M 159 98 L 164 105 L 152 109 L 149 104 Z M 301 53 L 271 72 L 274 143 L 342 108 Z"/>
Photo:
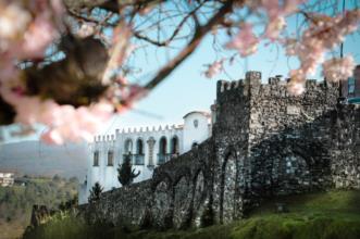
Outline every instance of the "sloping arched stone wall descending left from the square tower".
<path id="1" fill-rule="evenodd" d="M 210 139 L 156 168 L 152 179 L 104 192 L 84 216 L 114 225 L 199 226 L 212 194 L 212 150 Z"/>

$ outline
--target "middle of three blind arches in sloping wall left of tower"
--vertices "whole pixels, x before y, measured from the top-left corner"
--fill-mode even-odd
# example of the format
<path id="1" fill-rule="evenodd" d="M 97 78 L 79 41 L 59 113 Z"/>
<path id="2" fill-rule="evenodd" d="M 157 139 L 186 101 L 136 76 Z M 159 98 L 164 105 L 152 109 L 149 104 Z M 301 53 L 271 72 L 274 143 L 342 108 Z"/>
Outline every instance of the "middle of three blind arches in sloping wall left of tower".
<path id="1" fill-rule="evenodd" d="M 173 225 L 175 228 L 186 228 L 189 225 L 189 210 L 191 204 L 191 190 L 189 178 L 182 176 L 174 185 L 174 214 Z"/>

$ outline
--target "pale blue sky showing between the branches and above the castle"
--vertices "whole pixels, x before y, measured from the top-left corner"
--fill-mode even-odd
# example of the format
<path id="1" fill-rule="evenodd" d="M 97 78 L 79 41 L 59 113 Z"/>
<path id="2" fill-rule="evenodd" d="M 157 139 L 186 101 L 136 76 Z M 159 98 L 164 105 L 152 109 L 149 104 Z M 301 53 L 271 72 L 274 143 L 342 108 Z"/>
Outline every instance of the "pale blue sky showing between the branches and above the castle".
<path id="1" fill-rule="evenodd" d="M 288 23 L 293 29 L 295 22 L 295 18 L 290 18 Z M 226 42 L 227 39 L 223 38 L 222 40 Z M 352 53 L 358 64 L 360 63 L 359 42 L 360 36 L 356 33 L 347 37 L 344 47 L 345 55 Z M 281 47 L 262 43 L 253 55 L 238 60 L 232 66 L 226 66 L 226 73 L 208 79 L 202 74 L 206 70 L 204 65 L 219 60 L 211 43 L 212 38 L 208 36 L 196 52 L 179 65 L 166 80 L 135 105 L 134 111 L 113 117 L 103 125 L 100 134 L 113 134 L 115 128 L 182 124 L 182 118 L 186 113 L 195 110 L 210 110 L 210 105 L 215 100 L 216 80 L 237 80 L 244 78 L 247 71 L 260 71 L 262 80 L 266 81 L 268 77 L 274 75 L 287 77 L 289 68 L 296 68 L 298 65 L 296 59 L 289 60 L 285 56 Z M 149 68 L 149 66 L 157 68 L 167 60 L 164 51 L 160 50 L 157 53 L 156 61 L 135 59 L 135 63 L 139 68 Z M 322 79 L 320 70 L 314 78 Z M 138 79 L 141 79 L 141 76 Z M 146 80 L 144 79 L 144 81 Z M 37 137 L 32 136 L 24 139 L 36 139 Z M 23 139 L 14 138 L 13 140 Z"/>

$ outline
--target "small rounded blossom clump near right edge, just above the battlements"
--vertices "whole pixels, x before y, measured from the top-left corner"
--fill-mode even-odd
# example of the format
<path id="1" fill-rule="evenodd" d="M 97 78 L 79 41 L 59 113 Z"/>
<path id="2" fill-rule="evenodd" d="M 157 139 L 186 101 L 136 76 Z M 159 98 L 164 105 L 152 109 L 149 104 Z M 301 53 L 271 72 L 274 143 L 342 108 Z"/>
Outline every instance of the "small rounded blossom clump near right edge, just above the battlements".
<path id="1" fill-rule="evenodd" d="M 352 76 L 356 63 L 351 55 L 347 55 L 343 59 L 330 59 L 322 65 L 326 80 L 336 83 Z"/>

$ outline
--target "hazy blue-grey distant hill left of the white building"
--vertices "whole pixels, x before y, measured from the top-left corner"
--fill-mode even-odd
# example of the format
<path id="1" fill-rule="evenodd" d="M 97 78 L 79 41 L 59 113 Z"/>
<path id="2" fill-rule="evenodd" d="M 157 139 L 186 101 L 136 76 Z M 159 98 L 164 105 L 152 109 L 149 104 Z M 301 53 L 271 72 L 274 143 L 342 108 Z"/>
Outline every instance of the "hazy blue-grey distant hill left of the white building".
<path id="1" fill-rule="evenodd" d="M 77 177 L 86 175 L 87 146 L 48 146 L 39 141 L 0 144 L 0 171 L 18 174 Z"/>

